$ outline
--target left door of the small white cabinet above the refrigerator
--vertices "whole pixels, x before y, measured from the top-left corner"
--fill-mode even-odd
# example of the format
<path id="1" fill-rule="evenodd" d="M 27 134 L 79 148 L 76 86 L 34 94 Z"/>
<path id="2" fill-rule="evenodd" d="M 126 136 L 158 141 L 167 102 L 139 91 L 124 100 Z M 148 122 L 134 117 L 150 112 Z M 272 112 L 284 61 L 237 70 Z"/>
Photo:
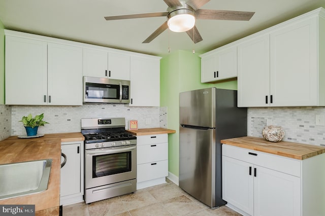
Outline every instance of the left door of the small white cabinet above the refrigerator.
<path id="1" fill-rule="evenodd" d="M 201 59 L 201 83 L 215 81 L 219 67 L 219 55 L 213 53 Z"/>

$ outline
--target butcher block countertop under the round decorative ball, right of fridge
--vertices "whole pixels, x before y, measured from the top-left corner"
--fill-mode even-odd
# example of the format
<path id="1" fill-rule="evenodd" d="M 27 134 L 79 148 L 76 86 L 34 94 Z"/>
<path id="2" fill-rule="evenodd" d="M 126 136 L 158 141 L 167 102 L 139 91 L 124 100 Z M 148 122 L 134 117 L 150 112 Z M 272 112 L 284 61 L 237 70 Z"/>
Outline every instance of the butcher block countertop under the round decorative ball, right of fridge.
<path id="1" fill-rule="evenodd" d="M 270 142 L 264 138 L 252 136 L 222 139 L 221 143 L 298 160 L 304 160 L 325 153 L 325 147 L 322 146 L 287 141 Z"/>

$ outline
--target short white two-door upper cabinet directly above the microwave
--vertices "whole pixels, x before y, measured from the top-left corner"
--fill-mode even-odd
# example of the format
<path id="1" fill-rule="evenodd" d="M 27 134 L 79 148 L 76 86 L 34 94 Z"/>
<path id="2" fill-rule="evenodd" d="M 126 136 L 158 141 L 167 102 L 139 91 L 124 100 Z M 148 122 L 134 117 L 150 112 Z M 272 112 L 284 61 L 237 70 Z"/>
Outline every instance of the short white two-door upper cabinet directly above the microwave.
<path id="1" fill-rule="evenodd" d="M 130 80 L 130 56 L 85 48 L 83 49 L 83 76 Z"/>

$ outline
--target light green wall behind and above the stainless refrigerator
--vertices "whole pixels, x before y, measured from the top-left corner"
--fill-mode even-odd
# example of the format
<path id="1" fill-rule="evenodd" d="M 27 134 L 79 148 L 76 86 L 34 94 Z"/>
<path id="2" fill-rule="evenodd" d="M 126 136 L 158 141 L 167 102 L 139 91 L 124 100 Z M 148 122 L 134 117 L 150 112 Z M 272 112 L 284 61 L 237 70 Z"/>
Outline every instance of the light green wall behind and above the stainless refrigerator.
<path id="1" fill-rule="evenodd" d="M 201 83 L 200 54 L 175 51 L 160 60 L 160 106 L 167 107 L 167 128 L 176 130 L 168 136 L 168 170 L 179 176 L 179 93 L 207 87 L 237 89 L 237 81 Z"/>

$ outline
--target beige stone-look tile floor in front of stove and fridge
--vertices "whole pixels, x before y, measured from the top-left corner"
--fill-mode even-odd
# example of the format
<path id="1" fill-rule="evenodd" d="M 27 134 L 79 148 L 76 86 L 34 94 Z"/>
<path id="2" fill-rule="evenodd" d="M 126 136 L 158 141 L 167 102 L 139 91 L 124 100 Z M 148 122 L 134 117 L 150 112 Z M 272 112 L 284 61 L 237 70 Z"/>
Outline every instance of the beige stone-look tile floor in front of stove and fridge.
<path id="1" fill-rule="evenodd" d="M 77 203 L 63 206 L 63 216 L 158 216 L 158 215 L 231 215 L 241 214 L 221 206 L 211 209 L 199 202 L 174 183 L 137 190 L 134 194 L 113 197 L 90 204 Z"/>

